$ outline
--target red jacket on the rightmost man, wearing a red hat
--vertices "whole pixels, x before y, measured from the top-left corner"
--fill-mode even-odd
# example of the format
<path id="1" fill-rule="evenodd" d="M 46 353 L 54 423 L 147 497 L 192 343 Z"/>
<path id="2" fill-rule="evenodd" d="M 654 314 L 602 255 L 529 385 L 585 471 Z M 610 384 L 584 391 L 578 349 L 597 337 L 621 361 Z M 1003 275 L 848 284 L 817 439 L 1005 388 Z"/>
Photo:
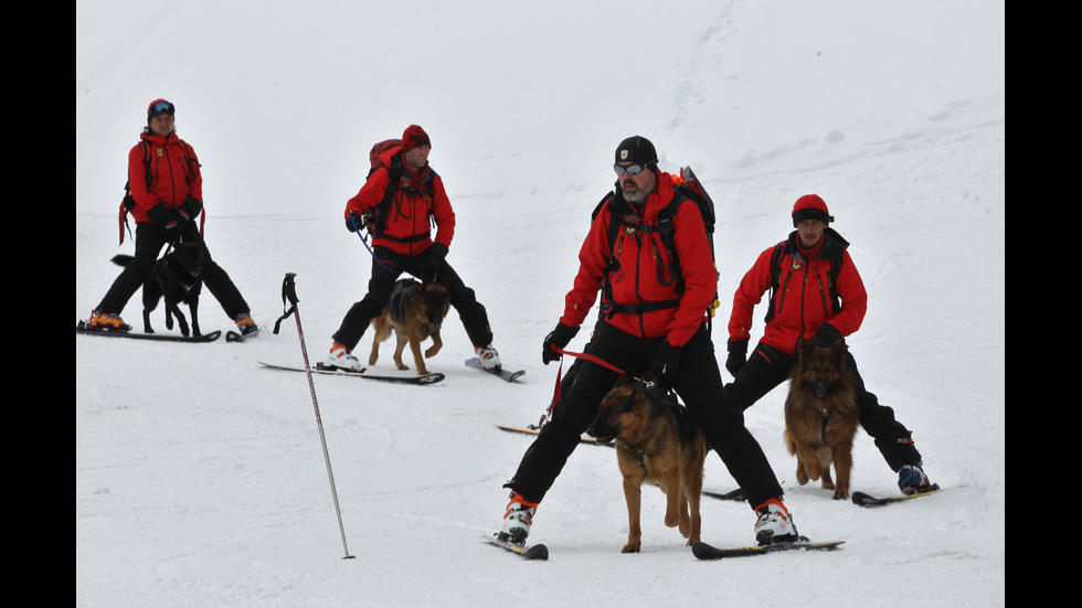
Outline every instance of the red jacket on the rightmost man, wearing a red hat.
<path id="1" fill-rule="evenodd" d="M 868 310 L 868 294 L 860 274 L 849 257 L 849 243 L 831 228 L 827 228 L 819 244 L 810 252 L 797 246 L 797 233 L 783 241 L 785 253 L 781 260 L 778 289 L 774 294 L 774 314 L 766 323 L 763 342 L 793 354 L 800 338 L 810 339 L 823 323 L 829 323 L 841 333 L 850 335 L 860 329 Z M 729 339 L 749 339 L 752 311 L 771 288 L 771 257 L 774 247 L 760 254 L 752 269 L 744 275 L 733 296 L 733 312 L 729 320 Z M 840 310 L 835 311 L 827 273 L 831 260 L 841 260 L 837 292 Z"/>

